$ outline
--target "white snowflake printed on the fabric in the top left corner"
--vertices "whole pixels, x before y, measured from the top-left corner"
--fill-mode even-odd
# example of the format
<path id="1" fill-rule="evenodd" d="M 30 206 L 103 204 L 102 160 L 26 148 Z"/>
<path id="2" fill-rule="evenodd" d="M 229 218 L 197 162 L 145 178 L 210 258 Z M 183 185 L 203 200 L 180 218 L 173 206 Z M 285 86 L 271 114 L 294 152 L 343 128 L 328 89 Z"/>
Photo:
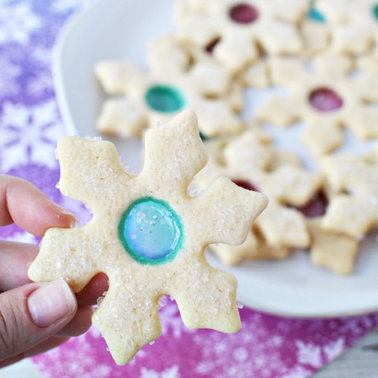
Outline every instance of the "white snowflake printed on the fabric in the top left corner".
<path id="1" fill-rule="evenodd" d="M 21 2 L 8 5 L 8 8 L 0 7 L 0 25 L 0 45 L 10 42 L 26 45 L 31 34 L 41 27 L 42 21 L 34 14 L 30 4 Z"/>

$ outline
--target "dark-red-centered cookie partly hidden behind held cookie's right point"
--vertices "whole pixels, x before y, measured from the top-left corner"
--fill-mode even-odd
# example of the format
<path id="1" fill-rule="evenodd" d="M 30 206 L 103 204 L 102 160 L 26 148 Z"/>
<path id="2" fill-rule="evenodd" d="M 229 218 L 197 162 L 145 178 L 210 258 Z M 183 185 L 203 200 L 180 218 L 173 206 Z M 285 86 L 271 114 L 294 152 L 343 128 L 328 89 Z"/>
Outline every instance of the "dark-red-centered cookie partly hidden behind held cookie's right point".
<path id="1" fill-rule="evenodd" d="M 195 185 L 205 188 L 210 180 L 223 176 L 242 188 L 260 190 L 270 200 L 243 245 L 211 247 L 223 263 L 233 265 L 244 258 L 282 259 L 293 247 L 309 247 L 306 220 L 296 207 L 311 201 L 322 184 L 320 175 L 301 168 L 291 153 L 269 146 L 264 135 L 254 129 L 228 142 L 222 154 L 223 159 L 210 157 Z"/>

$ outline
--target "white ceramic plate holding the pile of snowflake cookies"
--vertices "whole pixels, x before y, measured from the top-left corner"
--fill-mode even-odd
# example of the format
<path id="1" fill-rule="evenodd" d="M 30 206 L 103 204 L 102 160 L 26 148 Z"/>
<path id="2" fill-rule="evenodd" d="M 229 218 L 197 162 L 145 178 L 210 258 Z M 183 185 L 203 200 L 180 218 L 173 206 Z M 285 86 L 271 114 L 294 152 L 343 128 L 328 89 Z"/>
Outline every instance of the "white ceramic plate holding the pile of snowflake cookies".
<path id="1" fill-rule="evenodd" d="M 143 64 L 146 43 L 172 29 L 174 0 L 101 0 L 76 16 L 64 28 L 54 50 L 56 93 L 69 133 L 98 135 L 94 128 L 104 95 L 93 77 L 93 66 L 102 59 L 130 59 Z M 247 93 L 253 113 L 269 91 Z M 289 131 L 268 128 L 279 146 L 296 150 L 309 168 L 314 160 L 298 142 L 301 125 Z M 366 148 L 346 134 L 347 147 Z M 114 140 L 125 164 L 140 168 L 140 142 Z M 362 245 L 355 273 L 337 276 L 311 265 L 306 252 L 296 252 L 282 262 L 247 262 L 225 269 L 213 256 L 216 267 L 231 271 L 239 282 L 238 300 L 254 309 L 298 317 L 354 315 L 378 310 L 377 240 Z"/>

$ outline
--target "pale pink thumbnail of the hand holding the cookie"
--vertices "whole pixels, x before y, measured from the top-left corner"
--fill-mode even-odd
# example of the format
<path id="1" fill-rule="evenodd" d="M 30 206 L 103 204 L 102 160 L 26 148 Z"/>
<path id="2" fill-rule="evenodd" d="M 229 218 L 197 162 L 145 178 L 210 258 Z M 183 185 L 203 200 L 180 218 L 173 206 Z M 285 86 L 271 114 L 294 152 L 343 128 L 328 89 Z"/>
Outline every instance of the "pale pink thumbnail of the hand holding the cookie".
<path id="1" fill-rule="evenodd" d="M 27 307 L 36 326 L 45 328 L 67 318 L 76 309 L 76 299 L 62 279 L 46 283 L 27 297 Z"/>

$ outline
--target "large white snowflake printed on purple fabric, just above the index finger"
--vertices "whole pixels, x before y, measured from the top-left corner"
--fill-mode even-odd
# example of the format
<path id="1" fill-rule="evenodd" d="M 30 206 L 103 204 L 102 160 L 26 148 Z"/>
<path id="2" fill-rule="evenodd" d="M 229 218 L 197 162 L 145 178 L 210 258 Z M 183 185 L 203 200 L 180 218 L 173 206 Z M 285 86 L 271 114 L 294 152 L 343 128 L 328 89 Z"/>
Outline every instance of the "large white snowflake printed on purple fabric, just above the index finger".
<path id="1" fill-rule="evenodd" d="M 30 162 L 56 168 L 54 148 L 62 129 L 55 100 L 34 107 L 5 102 L 0 117 L 0 148 L 7 148 L 3 172 Z"/>

